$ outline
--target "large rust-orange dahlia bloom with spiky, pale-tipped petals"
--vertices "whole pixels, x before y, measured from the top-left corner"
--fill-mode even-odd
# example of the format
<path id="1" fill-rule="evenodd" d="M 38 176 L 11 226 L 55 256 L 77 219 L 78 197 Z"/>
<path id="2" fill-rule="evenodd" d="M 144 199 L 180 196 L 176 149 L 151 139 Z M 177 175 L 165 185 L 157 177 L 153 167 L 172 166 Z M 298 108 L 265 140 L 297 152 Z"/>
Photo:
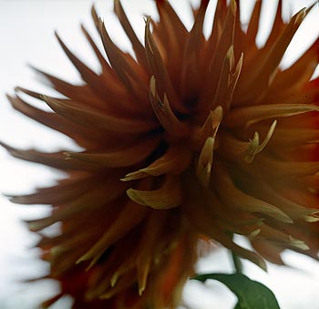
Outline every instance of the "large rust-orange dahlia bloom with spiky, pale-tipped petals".
<path id="1" fill-rule="evenodd" d="M 291 67 L 279 66 L 310 9 L 283 22 L 281 1 L 264 46 L 256 46 L 261 1 L 242 30 L 240 1 L 219 0 L 211 35 L 209 1 L 188 30 L 168 1 L 146 19 L 140 43 L 119 1 L 115 13 L 134 50 L 123 52 L 92 10 L 106 56 L 96 73 L 57 39 L 84 85 L 44 72 L 64 98 L 24 88 L 10 101 L 29 118 L 66 134 L 81 152 L 42 153 L 5 146 L 15 157 L 67 172 L 67 179 L 12 201 L 50 204 L 30 221 L 48 277 L 74 308 L 174 308 L 193 273 L 200 239 L 253 263 L 283 263 L 284 249 L 318 253 L 318 40 Z M 108 60 L 106 59 L 108 58 Z M 45 101 L 35 108 L 19 92 Z M 253 251 L 232 242 L 245 235 Z"/>

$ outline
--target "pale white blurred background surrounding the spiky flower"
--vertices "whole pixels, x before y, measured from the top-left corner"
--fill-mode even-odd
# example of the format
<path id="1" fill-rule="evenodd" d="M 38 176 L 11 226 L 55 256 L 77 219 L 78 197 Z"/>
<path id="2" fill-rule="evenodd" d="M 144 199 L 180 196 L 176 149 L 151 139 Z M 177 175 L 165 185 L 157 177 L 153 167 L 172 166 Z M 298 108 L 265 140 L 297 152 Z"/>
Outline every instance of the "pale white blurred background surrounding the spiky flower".
<path id="1" fill-rule="evenodd" d="M 314 3 L 306 0 L 283 2 L 286 18 L 304 6 Z M 196 5 L 199 1 L 171 1 L 187 26 L 190 26 L 189 3 Z M 215 3 L 216 1 L 211 0 L 211 16 Z M 253 3 L 252 0 L 242 0 L 244 22 L 249 20 Z M 113 35 L 119 46 L 129 50 L 124 32 L 112 15 L 112 1 L 96 0 L 95 4 L 108 29 L 112 29 L 110 35 Z M 260 45 L 270 31 L 276 4 L 277 0 L 267 0 L 263 3 L 263 31 L 258 36 Z M 80 23 L 84 23 L 98 41 L 89 13 L 91 5 L 92 0 L 0 0 L 0 140 L 22 149 L 36 147 L 56 151 L 77 148 L 70 139 L 18 115 L 10 108 L 5 94 L 12 95 L 15 86 L 52 94 L 52 90 L 46 88 L 43 81 L 27 67 L 28 64 L 68 81 L 79 82 L 77 72 L 57 44 L 54 30 L 57 30 L 77 56 L 85 60 L 90 67 L 98 68 L 79 28 Z M 129 13 L 129 19 L 137 29 L 139 37 L 142 38 L 142 15 L 156 16 L 153 1 L 122 0 L 122 5 Z M 288 67 L 314 42 L 318 34 L 319 5 L 316 5 L 294 37 L 282 66 Z M 63 174 L 57 170 L 12 159 L 4 149 L 0 149 L 0 191 L 3 193 L 27 193 L 37 186 L 48 186 L 61 177 Z M 45 206 L 19 206 L 10 203 L 5 197 L 0 197 L 0 309 L 33 309 L 58 288 L 57 283 L 50 281 L 23 282 L 48 271 L 46 263 L 37 260 L 39 252 L 32 249 L 37 241 L 36 235 L 27 232 L 26 224 L 23 222 L 39 218 L 46 213 L 48 209 Z M 318 309 L 319 263 L 290 252 L 283 253 L 283 260 L 291 267 L 283 268 L 269 264 L 269 273 L 263 273 L 252 263 L 244 262 L 244 273 L 270 287 L 283 309 Z M 198 269 L 201 273 L 231 273 L 232 262 L 229 252 L 220 250 L 211 253 L 209 257 L 200 261 Z M 215 282 L 206 286 L 191 282 L 187 284 L 184 294 L 185 304 L 193 309 L 231 309 L 236 304 L 236 297 L 227 288 Z M 68 309 L 71 302 L 66 298 L 55 308 Z"/>

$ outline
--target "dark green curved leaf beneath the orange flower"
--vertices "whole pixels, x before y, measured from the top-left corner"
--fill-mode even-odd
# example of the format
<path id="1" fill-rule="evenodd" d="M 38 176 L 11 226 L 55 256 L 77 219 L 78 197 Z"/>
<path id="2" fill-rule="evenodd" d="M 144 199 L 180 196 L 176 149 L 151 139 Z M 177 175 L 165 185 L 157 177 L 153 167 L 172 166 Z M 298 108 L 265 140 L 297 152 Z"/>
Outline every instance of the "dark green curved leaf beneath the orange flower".
<path id="1" fill-rule="evenodd" d="M 192 279 L 201 282 L 212 279 L 225 284 L 238 297 L 234 309 L 280 309 L 276 297 L 268 287 L 242 273 L 206 273 Z"/>

